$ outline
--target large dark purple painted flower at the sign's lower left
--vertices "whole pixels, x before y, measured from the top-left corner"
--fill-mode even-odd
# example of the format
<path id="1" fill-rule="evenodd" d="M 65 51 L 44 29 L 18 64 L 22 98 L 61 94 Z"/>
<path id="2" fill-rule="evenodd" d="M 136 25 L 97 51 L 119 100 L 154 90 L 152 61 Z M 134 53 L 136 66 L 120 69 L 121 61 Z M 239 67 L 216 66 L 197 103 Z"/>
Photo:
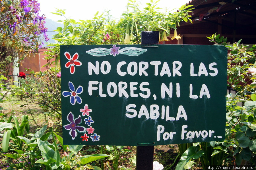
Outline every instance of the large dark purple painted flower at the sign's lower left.
<path id="1" fill-rule="evenodd" d="M 72 114 L 72 112 L 69 112 L 69 114 L 67 116 L 67 120 L 70 122 L 70 124 L 67 124 L 67 125 L 63 126 L 66 130 L 70 130 L 69 131 L 69 135 L 72 137 L 72 140 L 74 140 L 75 137 L 77 137 L 77 131 L 79 131 L 81 133 L 85 133 L 86 132 L 85 127 L 77 126 L 77 124 L 82 123 L 81 116 L 79 115 L 76 119 L 74 119 L 74 118 L 75 117 Z"/>

